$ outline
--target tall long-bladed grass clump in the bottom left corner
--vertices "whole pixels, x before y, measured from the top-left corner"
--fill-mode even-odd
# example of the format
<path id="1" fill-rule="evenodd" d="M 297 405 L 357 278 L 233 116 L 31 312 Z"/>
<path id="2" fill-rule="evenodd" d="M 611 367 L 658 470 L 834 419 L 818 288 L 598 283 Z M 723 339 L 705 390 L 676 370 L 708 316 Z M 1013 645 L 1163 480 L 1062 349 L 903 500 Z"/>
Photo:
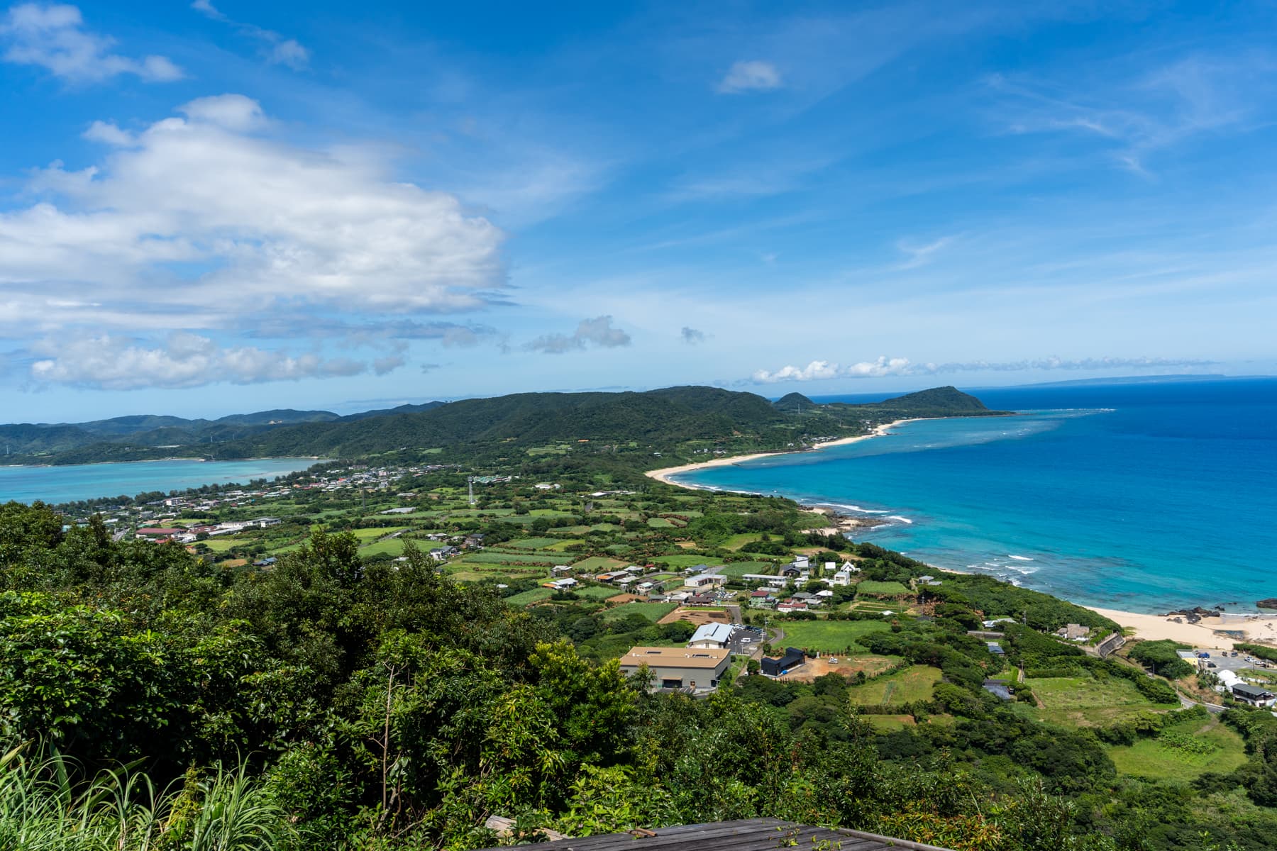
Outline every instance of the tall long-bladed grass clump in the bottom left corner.
<path id="1" fill-rule="evenodd" d="M 137 766 L 77 782 L 64 757 L 22 750 L 0 758 L 0 851 L 269 851 L 287 837 L 244 766 L 156 790 Z"/>

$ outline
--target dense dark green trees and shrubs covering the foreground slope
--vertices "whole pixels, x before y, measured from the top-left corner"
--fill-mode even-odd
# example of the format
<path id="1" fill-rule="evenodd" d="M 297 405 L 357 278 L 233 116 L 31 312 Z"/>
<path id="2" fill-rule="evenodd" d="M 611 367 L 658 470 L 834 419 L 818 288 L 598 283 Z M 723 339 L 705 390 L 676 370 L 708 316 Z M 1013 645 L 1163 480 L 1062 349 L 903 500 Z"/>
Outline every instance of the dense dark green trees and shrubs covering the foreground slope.
<path id="1" fill-rule="evenodd" d="M 871 581 L 926 569 L 857 555 Z M 1202 833 L 1258 851 L 1277 834 L 1268 713 L 1226 716 L 1250 751 L 1240 767 L 1168 785 L 1124 778 L 1108 755 L 1167 726 L 1149 703 L 1165 681 L 1018 626 L 1006 662 L 1111 680 L 1153 717 L 1051 726 L 981 688 L 1008 672 L 965 634 L 974 600 L 1077 619 L 1043 595 L 954 583 L 930 621 L 790 621 L 873 623 L 858 644 L 926 666 L 917 688 L 881 683 L 863 711 L 898 723 L 879 730 L 857 707 L 868 689 L 838 675 L 647 694 L 618 648 L 686 642 L 687 624 L 566 595 L 524 609 L 411 542 L 405 556 L 365 560 L 355 536 L 315 529 L 269 570 L 223 569 L 0 507 L 0 739 L 63 755 L 0 767 L 0 847 L 460 851 L 497 842 L 490 814 L 570 836 L 773 815 L 960 851 L 1162 851 Z M 65 836 L 82 841 L 22 838 Z"/>

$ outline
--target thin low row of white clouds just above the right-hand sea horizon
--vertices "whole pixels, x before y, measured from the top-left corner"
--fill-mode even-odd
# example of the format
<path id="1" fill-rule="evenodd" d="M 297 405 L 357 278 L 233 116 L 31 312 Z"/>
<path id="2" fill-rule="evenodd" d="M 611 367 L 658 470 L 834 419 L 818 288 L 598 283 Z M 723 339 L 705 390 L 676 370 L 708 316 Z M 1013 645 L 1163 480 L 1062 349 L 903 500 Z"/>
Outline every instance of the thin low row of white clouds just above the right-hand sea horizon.
<path id="1" fill-rule="evenodd" d="M 831 378 L 884 378 L 889 375 L 942 375 L 946 373 L 1024 373 L 1032 370 L 1111 370 L 1111 369 L 1172 369 L 1213 366 L 1216 361 L 1166 357 L 1084 357 L 1068 360 L 1043 357 L 1022 361 L 968 361 L 953 364 L 914 364 L 908 357 L 879 357 L 840 366 L 831 361 L 812 361 L 807 366 L 782 366 L 778 370 L 756 370 L 755 384 L 779 381 L 815 381 Z"/>

